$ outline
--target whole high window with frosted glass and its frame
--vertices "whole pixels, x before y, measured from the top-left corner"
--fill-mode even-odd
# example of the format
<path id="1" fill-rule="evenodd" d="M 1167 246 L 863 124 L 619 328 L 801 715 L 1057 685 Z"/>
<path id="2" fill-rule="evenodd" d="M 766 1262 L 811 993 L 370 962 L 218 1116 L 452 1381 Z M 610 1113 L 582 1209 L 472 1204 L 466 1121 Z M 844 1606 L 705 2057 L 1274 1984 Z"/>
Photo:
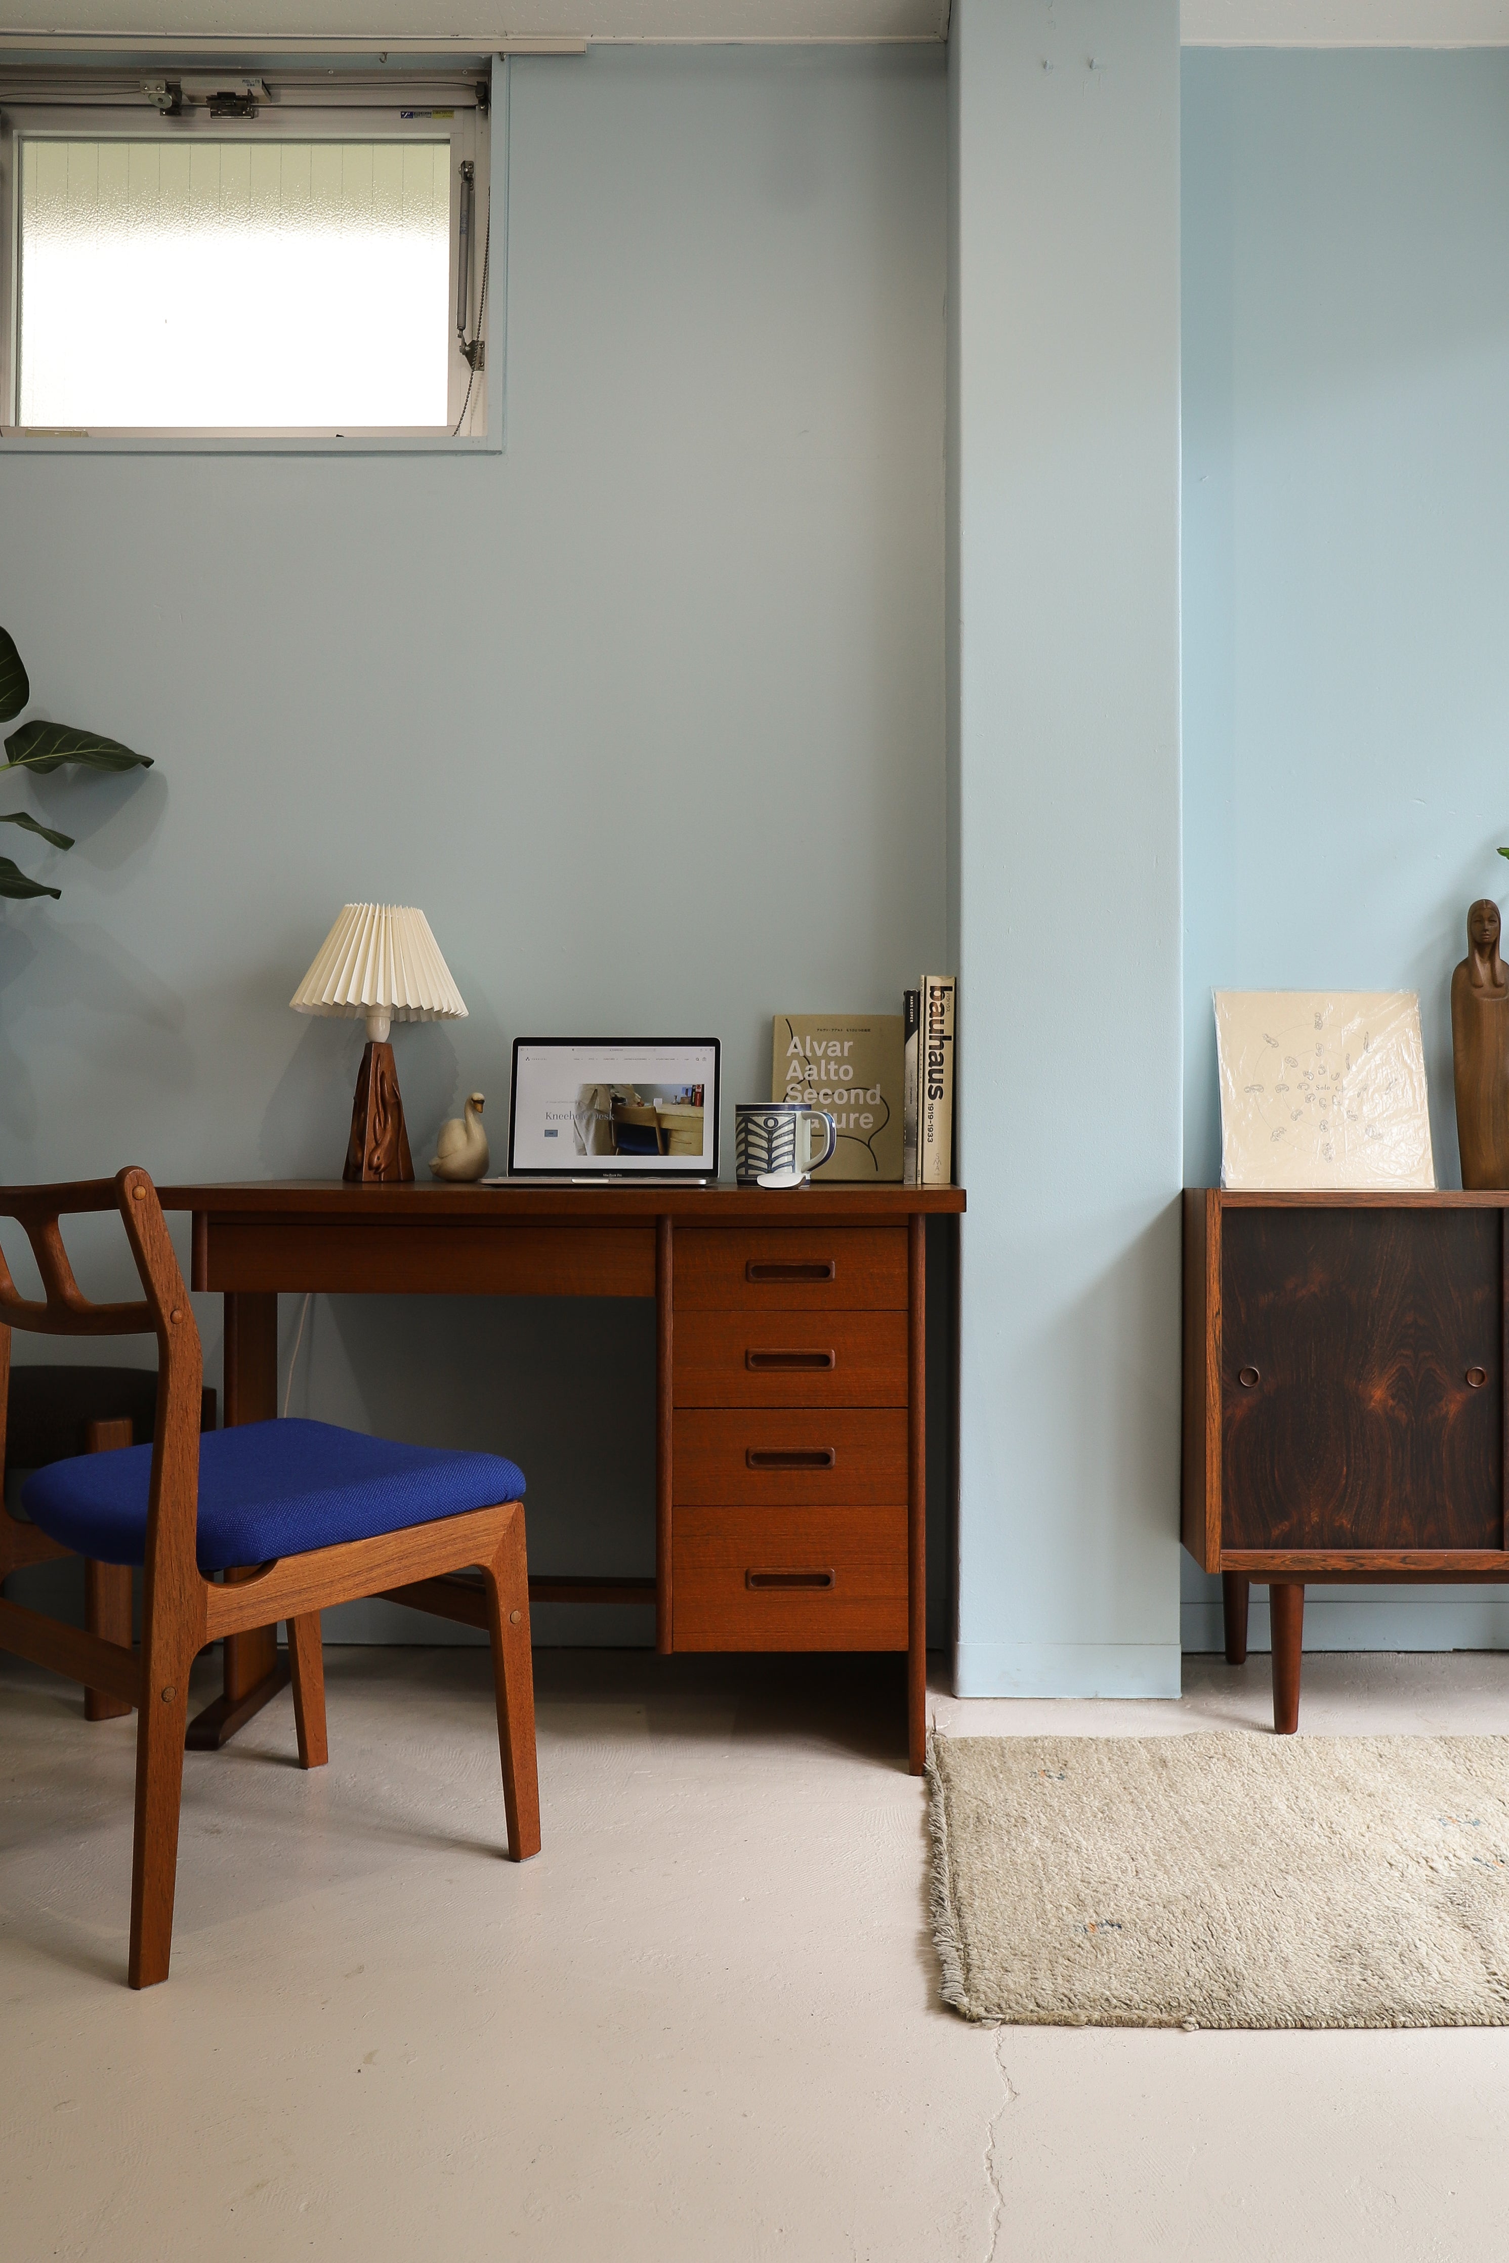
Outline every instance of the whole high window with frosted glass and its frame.
<path id="1" fill-rule="evenodd" d="M 9 439 L 486 434 L 486 84 L 136 86 L 5 104 Z"/>

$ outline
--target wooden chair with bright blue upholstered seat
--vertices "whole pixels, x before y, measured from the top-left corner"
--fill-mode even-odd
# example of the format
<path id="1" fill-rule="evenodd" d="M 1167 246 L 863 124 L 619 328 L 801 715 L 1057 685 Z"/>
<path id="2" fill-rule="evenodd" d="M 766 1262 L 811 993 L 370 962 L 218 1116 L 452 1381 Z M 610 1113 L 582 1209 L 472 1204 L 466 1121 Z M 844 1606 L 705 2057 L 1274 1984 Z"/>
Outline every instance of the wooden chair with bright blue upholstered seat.
<path id="1" fill-rule="evenodd" d="M 59 1220 L 113 1208 L 143 1299 L 90 1303 L 72 1276 Z M 188 1672 L 197 1652 L 224 1634 L 287 1620 L 299 1763 L 321 1767 L 319 1611 L 357 1595 L 403 1600 L 409 1584 L 475 1566 L 493 1645 L 509 1856 L 520 1862 L 538 1853 L 520 1471 L 498 1455 L 391 1446 L 305 1421 L 244 1423 L 201 1439 L 199 1328 L 147 1172 L 0 1188 L 0 1217 L 25 1229 L 45 1290 L 41 1303 L 23 1299 L 0 1254 L 0 1408 L 11 1328 L 158 1340 L 154 1444 L 54 1462 L 23 1491 L 34 1528 L 61 1552 L 143 1564 L 140 1652 L 0 1600 L 0 1647 L 136 1706 L 131 1987 L 167 1978 Z M 224 1584 L 208 1577 L 233 1566 L 258 1568 Z"/>

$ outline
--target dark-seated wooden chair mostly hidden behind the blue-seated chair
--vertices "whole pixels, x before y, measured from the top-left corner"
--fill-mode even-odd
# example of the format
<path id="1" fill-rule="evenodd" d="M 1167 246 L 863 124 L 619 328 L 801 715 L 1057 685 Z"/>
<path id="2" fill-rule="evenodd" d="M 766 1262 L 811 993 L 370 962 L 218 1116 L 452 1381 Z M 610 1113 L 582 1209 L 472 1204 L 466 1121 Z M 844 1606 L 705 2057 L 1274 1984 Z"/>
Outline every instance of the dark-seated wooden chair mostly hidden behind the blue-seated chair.
<path id="1" fill-rule="evenodd" d="M 215 1392 L 199 1394 L 199 1428 L 215 1428 Z M 7 1469 L 45 1469 L 77 1453 L 113 1453 L 156 1430 L 152 1367 L 11 1367 L 0 1421 Z M 23 1564 L 66 1557 L 36 1525 L 0 1518 L 0 1595 Z M 131 1566 L 84 1557 L 84 1625 L 111 1643 L 131 1641 Z M 106 1690 L 84 1690 L 84 1720 L 120 1720 L 131 1706 Z"/>

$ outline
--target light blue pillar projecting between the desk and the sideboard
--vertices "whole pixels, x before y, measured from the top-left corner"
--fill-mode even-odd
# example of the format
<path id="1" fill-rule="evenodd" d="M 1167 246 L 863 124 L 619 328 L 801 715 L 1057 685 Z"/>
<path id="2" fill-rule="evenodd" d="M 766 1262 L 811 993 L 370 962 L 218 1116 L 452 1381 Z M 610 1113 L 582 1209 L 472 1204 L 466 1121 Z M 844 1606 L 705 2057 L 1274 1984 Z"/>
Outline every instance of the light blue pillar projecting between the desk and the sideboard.
<path id="1" fill-rule="evenodd" d="M 957 1686 L 1179 1690 L 1179 9 L 955 0 Z"/>

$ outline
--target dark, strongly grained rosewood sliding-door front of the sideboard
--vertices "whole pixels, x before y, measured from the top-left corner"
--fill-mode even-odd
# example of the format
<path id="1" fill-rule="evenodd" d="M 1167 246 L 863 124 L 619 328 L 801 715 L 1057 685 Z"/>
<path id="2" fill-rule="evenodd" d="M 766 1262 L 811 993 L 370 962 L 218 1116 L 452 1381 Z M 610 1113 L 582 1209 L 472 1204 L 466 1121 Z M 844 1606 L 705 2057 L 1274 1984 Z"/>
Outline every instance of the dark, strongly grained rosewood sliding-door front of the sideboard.
<path id="1" fill-rule="evenodd" d="M 1500 1215 L 1226 1215 L 1222 1430 L 1222 1561 L 1502 1548 Z"/>

